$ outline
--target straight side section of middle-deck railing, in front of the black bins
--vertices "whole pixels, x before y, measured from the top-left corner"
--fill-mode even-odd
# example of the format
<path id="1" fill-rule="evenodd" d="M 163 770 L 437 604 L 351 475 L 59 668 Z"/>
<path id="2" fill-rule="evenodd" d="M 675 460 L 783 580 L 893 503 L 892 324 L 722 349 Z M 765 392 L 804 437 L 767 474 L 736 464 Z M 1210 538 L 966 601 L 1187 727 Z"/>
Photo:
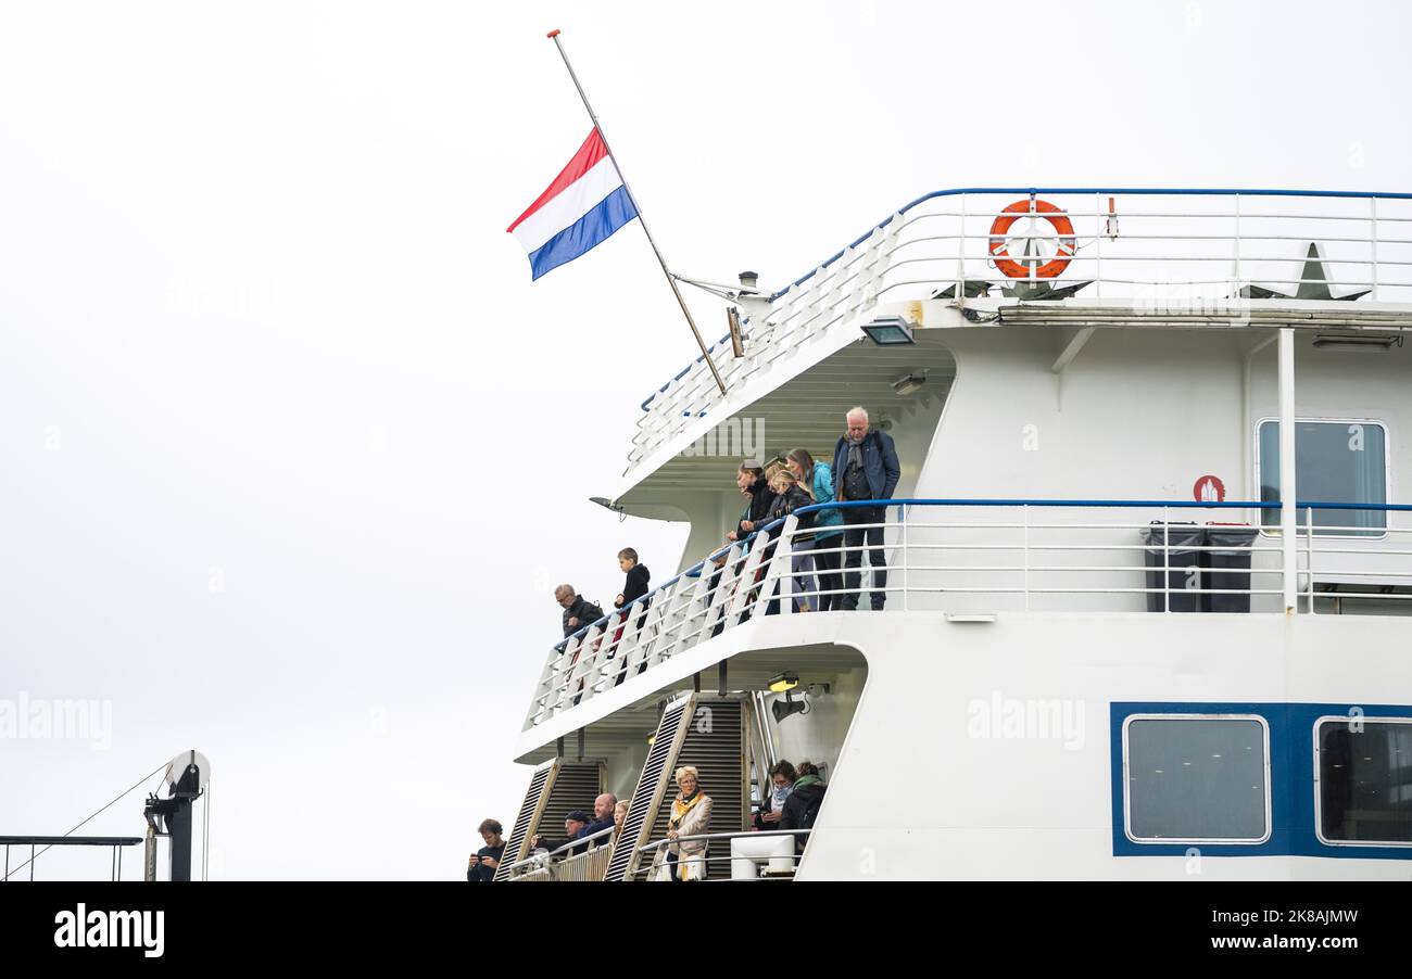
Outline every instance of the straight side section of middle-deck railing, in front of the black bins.
<path id="1" fill-rule="evenodd" d="M 786 600 L 771 612 L 818 608 L 820 598 L 868 608 L 878 597 L 904 611 L 988 614 L 1000 611 L 1284 611 L 1282 542 L 1278 526 L 1211 519 L 1240 511 L 1278 512 L 1279 502 L 1230 501 L 1042 501 L 1042 499 L 902 499 L 860 501 L 806 506 L 786 518 L 781 545 L 772 556 L 778 592 Z M 840 530 L 864 536 L 882 530 L 882 545 L 849 536 L 813 539 L 801 550 L 802 516 L 827 509 L 882 509 L 875 522 L 850 522 Z M 1077 509 L 1132 511 L 1148 519 L 1094 519 L 1056 515 Z M 1300 501 L 1296 547 L 1296 612 L 1313 614 L 1319 584 L 1377 584 L 1378 600 L 1412 601 L 1412 528 L 1388 525 L 1394 512 L 1412 511 L 1396 504 L 1343 504 Z M 988 518 L 1010 511 L 1018 519 Z M 1214 512 L 1213 512 L 1214 511 Z M 1204 522 L 1200 519 L 1204 512 Z M 1327 522 L 1348 512 L 1354 522 Z M 895 519 L 888 519 L 897 513 Z M 1315 513 L 1323 521 L 1316 523 Z M 1374 516 L 1368 521 L 1367 518 Z M 1152 519 L 1159 518 L 1159 519 Z M 1360 522 L 1363 521 L 1363 522 Z M 832 529 L 832 528 L 825 528 Z M 1244 530 L 1245 540 L 1231 540 Z M 1210 532 L 1226 539 L 1207 542 Z M 1247 543 L 1248 542 L 1248 543 Z M 885 567 L 863 567 L 870 552 L 884 553 Z M 818 570 L 802 568 L 796 559 L 834 554 L 840 576 L 851 560 L 858 567 L 834 587 L 820 585 Z M 1231 560 L 1234 559 L 1234 560 Z M 789 561 L 789 566 L 785 566 Z M 1141 573 L 1142 577 L 1134 577 Z M 1394 591 L 1394 588 L 1404 591 Z M 1370 595 L 1350 592 L 1351 597 Z M 771 598 L 775 598 L 775 592 Z"/>

